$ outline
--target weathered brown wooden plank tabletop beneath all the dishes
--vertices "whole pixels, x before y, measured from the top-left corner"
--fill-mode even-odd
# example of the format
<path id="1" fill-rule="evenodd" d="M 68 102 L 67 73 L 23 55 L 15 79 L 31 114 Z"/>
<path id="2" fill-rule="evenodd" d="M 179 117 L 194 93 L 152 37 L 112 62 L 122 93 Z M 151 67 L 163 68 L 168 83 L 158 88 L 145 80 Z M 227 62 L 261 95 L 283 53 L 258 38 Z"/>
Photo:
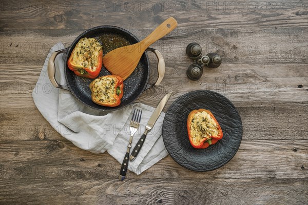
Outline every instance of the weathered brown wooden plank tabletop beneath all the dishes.
<path id="1" fill-rule="evenodd" d="M 242 117 L 242 144 L 215 171 L 189 171 L 167 156 L 120 182 L 120 164 L 61 137 L 31 92 L 55 43 L 69 46 L 99 25 L 142 39 L 170 16 L 178 29 L 152 46 L 165 78 L 138 101 L 155 107 L 172 90 L 166 111 L 186 92 L 219 92 Z M 1 1 L 1 204 L 307 204 L 307 16 L 307 1 L 296 0 Z M 186 77 L 191 42 L 223 59 L 198 81 Z"/>

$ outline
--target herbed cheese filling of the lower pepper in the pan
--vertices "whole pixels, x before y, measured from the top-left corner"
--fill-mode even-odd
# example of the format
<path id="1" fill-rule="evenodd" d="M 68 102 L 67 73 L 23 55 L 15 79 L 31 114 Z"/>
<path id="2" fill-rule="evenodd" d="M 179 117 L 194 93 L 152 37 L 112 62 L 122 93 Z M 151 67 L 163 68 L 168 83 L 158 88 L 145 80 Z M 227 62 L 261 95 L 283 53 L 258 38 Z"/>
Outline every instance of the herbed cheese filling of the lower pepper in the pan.
<path id="1" fill-rule="evenodd" d="M 116 100 L 113 96 L 115 94 L 116 83 L 112 77 L 95 79 L 93 84 L 95 98 L 103 103 L 115 103 Z"/>

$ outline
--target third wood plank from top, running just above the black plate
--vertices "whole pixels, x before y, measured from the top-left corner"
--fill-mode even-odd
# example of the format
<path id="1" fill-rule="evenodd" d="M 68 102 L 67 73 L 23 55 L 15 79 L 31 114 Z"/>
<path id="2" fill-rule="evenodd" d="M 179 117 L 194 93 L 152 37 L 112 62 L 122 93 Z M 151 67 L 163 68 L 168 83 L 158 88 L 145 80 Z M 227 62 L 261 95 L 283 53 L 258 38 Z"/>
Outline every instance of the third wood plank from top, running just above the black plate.
<path id="1" fill-rule="evenodd" d="M 40 75 L 39 67 L 36 67 L 37 69 L 30 66 L 11 67 L 0 70 L 2 76 L 0 106 L 2 108 L 35 108 L 31 96 L 33 90 L 49 92 L 49 89 L 56 89 L 51 83 L 35 86 Z M 150 77 L 150 82 L 154 82 L 157 77 L 155 67 L 156 65 L 152 64 L 150 72 L 153 75 Z M 281 76 L 277 67 L 281 68 L 285 76 Z M 308 78 L 305 77 L 306 66 L 294 65 L 293 67 L 294 69 L 290 69 L 290 65 L 277 65 L 260 71 L 258 66 L 249 66 L 248 71 L 241 71 L 241 66 L 234 69 L 232 65 L 222 65 L 216 71 L 205 69 L 207 73 L 204 73 L 198 81 L 189 80 L 184 68 L 175 70 L 167 67 L 161 85 L 145 91 L 137 102 L 156 106 L 167 91 L 174 91 L 175 94 L 169 101 L 170 105 L 186 92 L 213 90 L 228 97 L 237 107 L 247 103 L 252 106 L 288 102 L 306 105 L 308 89 Z"/>

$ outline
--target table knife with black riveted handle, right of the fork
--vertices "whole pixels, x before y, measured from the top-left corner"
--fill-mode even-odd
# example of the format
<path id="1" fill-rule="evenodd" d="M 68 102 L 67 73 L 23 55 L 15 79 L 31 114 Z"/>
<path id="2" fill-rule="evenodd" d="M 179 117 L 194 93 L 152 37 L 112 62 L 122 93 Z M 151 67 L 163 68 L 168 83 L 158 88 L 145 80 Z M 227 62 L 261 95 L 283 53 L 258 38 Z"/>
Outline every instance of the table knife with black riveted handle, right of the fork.
<path id="1" fill-rule="evenodd" d="M 147 133 L 153 128 L 155 125 L 156 120 L 159 118 L 161 112 L 163 111 L 163 108 L 165 107 L 169 97 L 171 96 L 172 91 L 166 94 L 158 104 L 157 108 L 154 110 L 153 114 L 151 115 L 147 125 L 145 126 L 145 131 L 143 135 L 140 137 L 139 141 L 137 142 L 137 145 L 133 148 L 132 153 L 129 157 L 130 161 L 133 161 L 137 155 L 139 154 L 141 147 L 145 141 Z"/>

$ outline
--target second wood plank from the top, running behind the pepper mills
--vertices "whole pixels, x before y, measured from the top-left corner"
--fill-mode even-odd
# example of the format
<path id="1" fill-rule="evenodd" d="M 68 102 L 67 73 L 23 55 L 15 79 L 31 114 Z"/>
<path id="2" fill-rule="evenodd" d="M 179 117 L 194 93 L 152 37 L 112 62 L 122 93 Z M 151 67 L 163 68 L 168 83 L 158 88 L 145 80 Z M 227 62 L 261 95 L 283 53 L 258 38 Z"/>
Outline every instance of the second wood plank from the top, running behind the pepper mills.
<path id="1" fill-rule="evenodd" d="M 43 65 L 50 48 L 57 42 L 68 47 L 84 30 L 2 30 L 1 64 Z M 151 29 L 129 29 L 139 39 Z M 160 50 L 167 64 L 185 70 L 191 60 L 185 54 L 191 42 L 201 45 L 204 54 L 218 52 L 223 64 L 258 65 L 307 64 L 307 28 L 292 29 L 177 29 L 152 45 Z M 152 56 L 151 60 L 155 58 Z M 223 65 L 222 64 L 222 65 Z M 262 66 L 261 66 L 262 65 Z M 277 68 L 278 69 L 278 68 Z"/>

